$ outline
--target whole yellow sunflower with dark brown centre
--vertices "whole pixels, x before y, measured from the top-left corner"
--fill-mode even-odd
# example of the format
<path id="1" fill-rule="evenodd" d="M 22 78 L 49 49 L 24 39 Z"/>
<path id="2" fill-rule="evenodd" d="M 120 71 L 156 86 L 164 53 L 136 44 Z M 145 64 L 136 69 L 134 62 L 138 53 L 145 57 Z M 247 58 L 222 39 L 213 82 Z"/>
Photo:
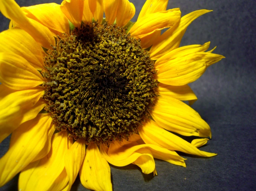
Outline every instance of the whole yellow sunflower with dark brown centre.
<path id="1" fill-rule="evenodd" d="M 0 33 L 0 142 L 11 134 L 0 186 L 20 172 L 19 190 L 70 190 L 79 173 L 84 187 L 112 190 L 108 163 L 155 175 L 154 158 L 185 167 L 176 151 L 216 155 L 197 149 L 211 130 L 183 101 L 197 100 L 187 84 L 224 57 L 206 52 L 210 42 L 179 47 L 210 11 L 180 18 L 167 3 L 147 0 L 131 22 L 128 0 L 0 0 L 11 20 Z"/>

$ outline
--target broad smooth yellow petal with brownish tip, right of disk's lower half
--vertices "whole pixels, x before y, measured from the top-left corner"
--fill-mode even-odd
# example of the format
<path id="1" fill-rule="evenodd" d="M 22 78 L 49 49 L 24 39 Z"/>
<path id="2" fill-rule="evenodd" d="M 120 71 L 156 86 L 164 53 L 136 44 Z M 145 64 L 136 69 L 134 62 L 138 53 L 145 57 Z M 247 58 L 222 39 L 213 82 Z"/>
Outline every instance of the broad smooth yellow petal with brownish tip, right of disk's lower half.
<path id="1" fill-rule="evenodd" d="M 151 112 L 160 127 L 185 136 L 211 137 L 209 125 L 187 104 L 171 97 L 157 98 Z"/>

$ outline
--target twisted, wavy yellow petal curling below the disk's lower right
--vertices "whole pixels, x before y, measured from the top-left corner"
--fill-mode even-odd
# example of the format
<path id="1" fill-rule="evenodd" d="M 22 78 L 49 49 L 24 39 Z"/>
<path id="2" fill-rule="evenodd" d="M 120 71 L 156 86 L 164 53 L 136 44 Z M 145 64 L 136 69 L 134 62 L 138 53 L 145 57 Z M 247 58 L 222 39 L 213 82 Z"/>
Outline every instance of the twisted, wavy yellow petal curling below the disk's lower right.
<path id="1" fill-rule="evenodd" d="M 155 171 L 155 162 L 152 161 L 152 158 L 185 166 L 184 158 L 180 157 L 175 151 L 159 147 L 159 145 L 144 144 L 143 141 L 140 141 L 139 135 L 134 135 L 129 138 L 129 141 L 114 141 L 110 144 L 109 149 L 103 145 L 101 153 L 109 163 L 116 166 L 124 166 L 130 163 L 137 164 L 138 162 L 142 172 L 145 173 Z"/>

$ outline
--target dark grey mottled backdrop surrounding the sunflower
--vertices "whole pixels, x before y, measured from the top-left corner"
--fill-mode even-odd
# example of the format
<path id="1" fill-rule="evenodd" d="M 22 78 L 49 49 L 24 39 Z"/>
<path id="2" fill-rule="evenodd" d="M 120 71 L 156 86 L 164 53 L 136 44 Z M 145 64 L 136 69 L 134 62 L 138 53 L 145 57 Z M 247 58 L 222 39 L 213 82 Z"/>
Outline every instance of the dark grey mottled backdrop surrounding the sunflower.
<path id="1" fill-rule="evenodd" d="M 17 0 L 20 6 L 61 0 Z M 133 21 L 145 0 L 130 0 L 136 7 Z M 254 0 L 170 0 L 168 9 L 179 7 L 182 15 L 210 9 L 187 29 L 181 45 L 211 41 L 214 53 L 226 57 L 191 84 L 198 97 L 193 108 L 209 123 L 212 140 L 201 150 L 218 153 L 196 158 L 179 153 L 187 168 L 156 160 L 158 175 L 145 175 L 135 165 L 111 166 L 112 183 L 119 190 L 254 190 L 255 189 L 255 12 Z M 9 21 L 0 16 L 0 30 Z M 1 156 L 9 138 L 0 145 Z M 16 176 L 0 190 L 17 190 Z M 72 190 L 87 190 L 79 179 Z"/>

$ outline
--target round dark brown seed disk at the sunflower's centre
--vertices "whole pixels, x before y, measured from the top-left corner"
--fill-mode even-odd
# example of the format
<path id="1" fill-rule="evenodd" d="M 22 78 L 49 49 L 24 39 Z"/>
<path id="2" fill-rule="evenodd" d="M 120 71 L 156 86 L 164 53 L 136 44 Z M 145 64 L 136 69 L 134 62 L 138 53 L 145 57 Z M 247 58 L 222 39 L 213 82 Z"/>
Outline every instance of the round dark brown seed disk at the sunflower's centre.
<path id="1" fill-rule="evenodd" d="M 45 110 L 59 131 L 87 144 L 127 139 L 150 116 L 154 61 L 116 25 L 92 23 L 57 37 L 44 58 Z"/>

